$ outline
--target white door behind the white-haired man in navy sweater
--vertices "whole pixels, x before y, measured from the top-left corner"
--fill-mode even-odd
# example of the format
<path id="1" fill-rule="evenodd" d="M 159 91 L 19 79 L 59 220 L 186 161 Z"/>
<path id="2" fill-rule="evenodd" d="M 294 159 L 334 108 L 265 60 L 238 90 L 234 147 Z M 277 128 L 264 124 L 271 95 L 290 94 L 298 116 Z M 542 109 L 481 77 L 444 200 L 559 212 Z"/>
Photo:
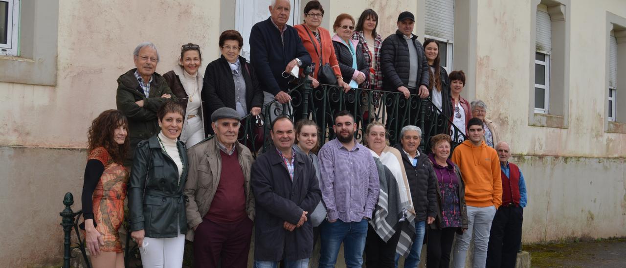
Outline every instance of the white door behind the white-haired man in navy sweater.
<path id="1" fill-rule="evenodd" d="M 270 4 L 273 0 L 267 1 Z M 294 26 L 295 24 L 300 24 L 300 0 L 290 0 L 291 10 L 289 11 L 289 21 L 287 24 Z M 254 7 L 259 6 L 259 0 L 236 0 L 235 1 L 235 29 L 239 31 L 239 33 L 244 38 L 244 47 L 241 49 L 241 56 L 250 61 L 250 29 L 255 23 L 259 21 L 254 21 L 252 25 L 247 23 L 248 18 L 254 19 Z M 268 6 L 259 6 L 259 8 L 267 11 L 267 17 L 263 18 L 263 20 L 269 18 L 269 9 Z"/>

